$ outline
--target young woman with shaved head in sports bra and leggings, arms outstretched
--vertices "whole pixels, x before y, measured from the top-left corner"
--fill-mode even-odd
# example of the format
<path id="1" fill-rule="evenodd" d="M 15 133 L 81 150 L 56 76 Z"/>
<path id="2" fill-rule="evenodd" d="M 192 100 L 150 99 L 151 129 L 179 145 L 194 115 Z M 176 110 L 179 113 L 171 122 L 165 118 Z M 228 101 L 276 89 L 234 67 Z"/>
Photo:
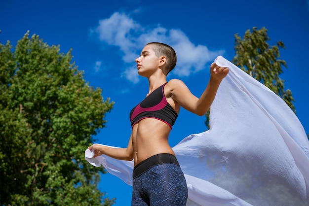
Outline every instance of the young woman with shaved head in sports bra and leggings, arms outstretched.
<path id="1" fill-rule="evenodd" d="M 149 93 L 130 112 L 132 134 L 127 148 L 94 144 L 88 147 L 95 156 L 102 154 L 120 160 L 134 159 L 132 206 L 185 206 L 188 189 L 183 172 L 168 144 L 169 133 L 180 107 L 204 115 L 213 102 L 228 68 L 215 64 L 200 96 L 195 97 L 179 79 L 166 81 L 176 66 L 176 53 L 169 45 L 152 42 L 142 50 L 138 73 L 149 80 Z"/>

